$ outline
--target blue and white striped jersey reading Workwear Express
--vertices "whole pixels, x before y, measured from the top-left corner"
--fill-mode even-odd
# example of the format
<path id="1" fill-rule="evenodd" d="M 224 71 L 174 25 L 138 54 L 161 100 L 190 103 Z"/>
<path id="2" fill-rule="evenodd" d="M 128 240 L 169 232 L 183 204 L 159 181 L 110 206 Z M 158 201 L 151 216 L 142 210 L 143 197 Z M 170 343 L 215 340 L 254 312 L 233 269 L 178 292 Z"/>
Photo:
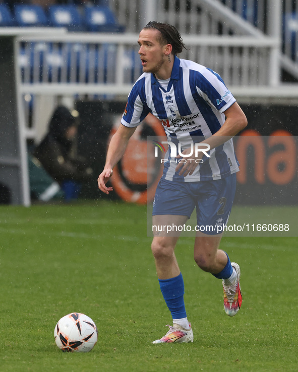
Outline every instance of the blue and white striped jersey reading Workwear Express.
<path id="1" fill-rule="evenodd" d="M 143 73 L 134 84 L 122 124 L 139 125 L 148 113 L 157 117 L 164 127 L 167 141 L 182 151 L 191 144 L 202 142 L 217 132 L 225 121 L 223 112 L 235 102 L 220 76 L 211 69 L 193 61 L 175 57 L 167 89 L 162 88 L 152 73 Z M 194 146 L 194 145 L 193 145 Z M 175 172 L 177 160 L 165 155 L 162 178 L 192 182 L 217 180 L 239 171 L 232 139 L 203 156 L 190 176 Z"/>

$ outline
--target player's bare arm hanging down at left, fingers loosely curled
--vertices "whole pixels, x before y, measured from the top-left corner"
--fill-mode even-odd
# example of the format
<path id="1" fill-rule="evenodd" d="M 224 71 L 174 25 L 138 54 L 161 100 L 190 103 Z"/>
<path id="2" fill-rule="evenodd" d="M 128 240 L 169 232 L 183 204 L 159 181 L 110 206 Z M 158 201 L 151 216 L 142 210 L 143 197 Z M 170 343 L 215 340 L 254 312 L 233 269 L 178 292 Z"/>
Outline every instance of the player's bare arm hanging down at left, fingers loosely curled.
<path id="1" fill-rule="evenodd" d="M 125 153 L 128 141 L 134 134 L 135 130 L 136 127 L 129 128 L 123 124 L 120 124 L 120 127 L 118 127 L 110 140 L 106 154 L 105 166 L 97 179 L 98 188 L 105 194 L 109 194 L 109 192 L 113 190 L 111 186 L 106 187 L 106 183 L 113 173 L 114 166 L 118 163 L 118 161 L 120 161 Z"/>

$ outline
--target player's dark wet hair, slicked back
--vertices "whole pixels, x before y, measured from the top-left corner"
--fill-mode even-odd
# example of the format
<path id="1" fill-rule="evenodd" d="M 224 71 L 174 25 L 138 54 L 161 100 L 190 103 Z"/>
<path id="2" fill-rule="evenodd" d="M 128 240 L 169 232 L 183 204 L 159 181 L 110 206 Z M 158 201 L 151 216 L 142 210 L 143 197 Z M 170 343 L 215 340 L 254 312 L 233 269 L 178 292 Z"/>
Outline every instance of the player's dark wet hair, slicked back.
<path id="1" fill-rule="evenodd" d="M 162 23 L 157 21 L 150 21 L 144 27 L 144 29 L 153 28 L 160 32 L 160 36 L 157 36 L 157 40 L 160 44 L 171 44 L 172 46 L 172 53 L 177 55 L 177 53 L 181 53 L 183 49 L 186 49 L 182 37 L 178 30 L 168 23 Z"/>

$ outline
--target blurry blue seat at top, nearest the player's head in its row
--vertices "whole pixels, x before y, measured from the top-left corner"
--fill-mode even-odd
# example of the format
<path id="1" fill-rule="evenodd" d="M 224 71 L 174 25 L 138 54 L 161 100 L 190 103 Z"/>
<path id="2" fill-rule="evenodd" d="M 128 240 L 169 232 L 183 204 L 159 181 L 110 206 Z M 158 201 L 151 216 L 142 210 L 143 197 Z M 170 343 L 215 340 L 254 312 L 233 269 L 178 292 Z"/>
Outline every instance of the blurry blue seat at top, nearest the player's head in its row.
<path id="1" fill-rule="evenodd" d="M 85 25 L 91 32 L 124 32 L 125 27 L 116 23 L 113 12 L 108 7 L 86 6 Z"/>

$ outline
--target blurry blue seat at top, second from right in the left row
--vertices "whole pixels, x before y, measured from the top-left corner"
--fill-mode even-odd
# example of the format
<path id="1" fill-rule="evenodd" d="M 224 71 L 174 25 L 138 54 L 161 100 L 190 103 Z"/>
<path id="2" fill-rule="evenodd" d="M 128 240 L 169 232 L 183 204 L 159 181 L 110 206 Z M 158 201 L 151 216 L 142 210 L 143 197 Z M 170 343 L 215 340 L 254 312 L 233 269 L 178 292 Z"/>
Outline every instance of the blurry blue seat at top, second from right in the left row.
<path id="1" fill-rule="evenodd" d="M 67 27 L 70 31 L 83 31 L 83 22 L 75 5 L 52 5 L 48 8 L 50 25 Z"/>

